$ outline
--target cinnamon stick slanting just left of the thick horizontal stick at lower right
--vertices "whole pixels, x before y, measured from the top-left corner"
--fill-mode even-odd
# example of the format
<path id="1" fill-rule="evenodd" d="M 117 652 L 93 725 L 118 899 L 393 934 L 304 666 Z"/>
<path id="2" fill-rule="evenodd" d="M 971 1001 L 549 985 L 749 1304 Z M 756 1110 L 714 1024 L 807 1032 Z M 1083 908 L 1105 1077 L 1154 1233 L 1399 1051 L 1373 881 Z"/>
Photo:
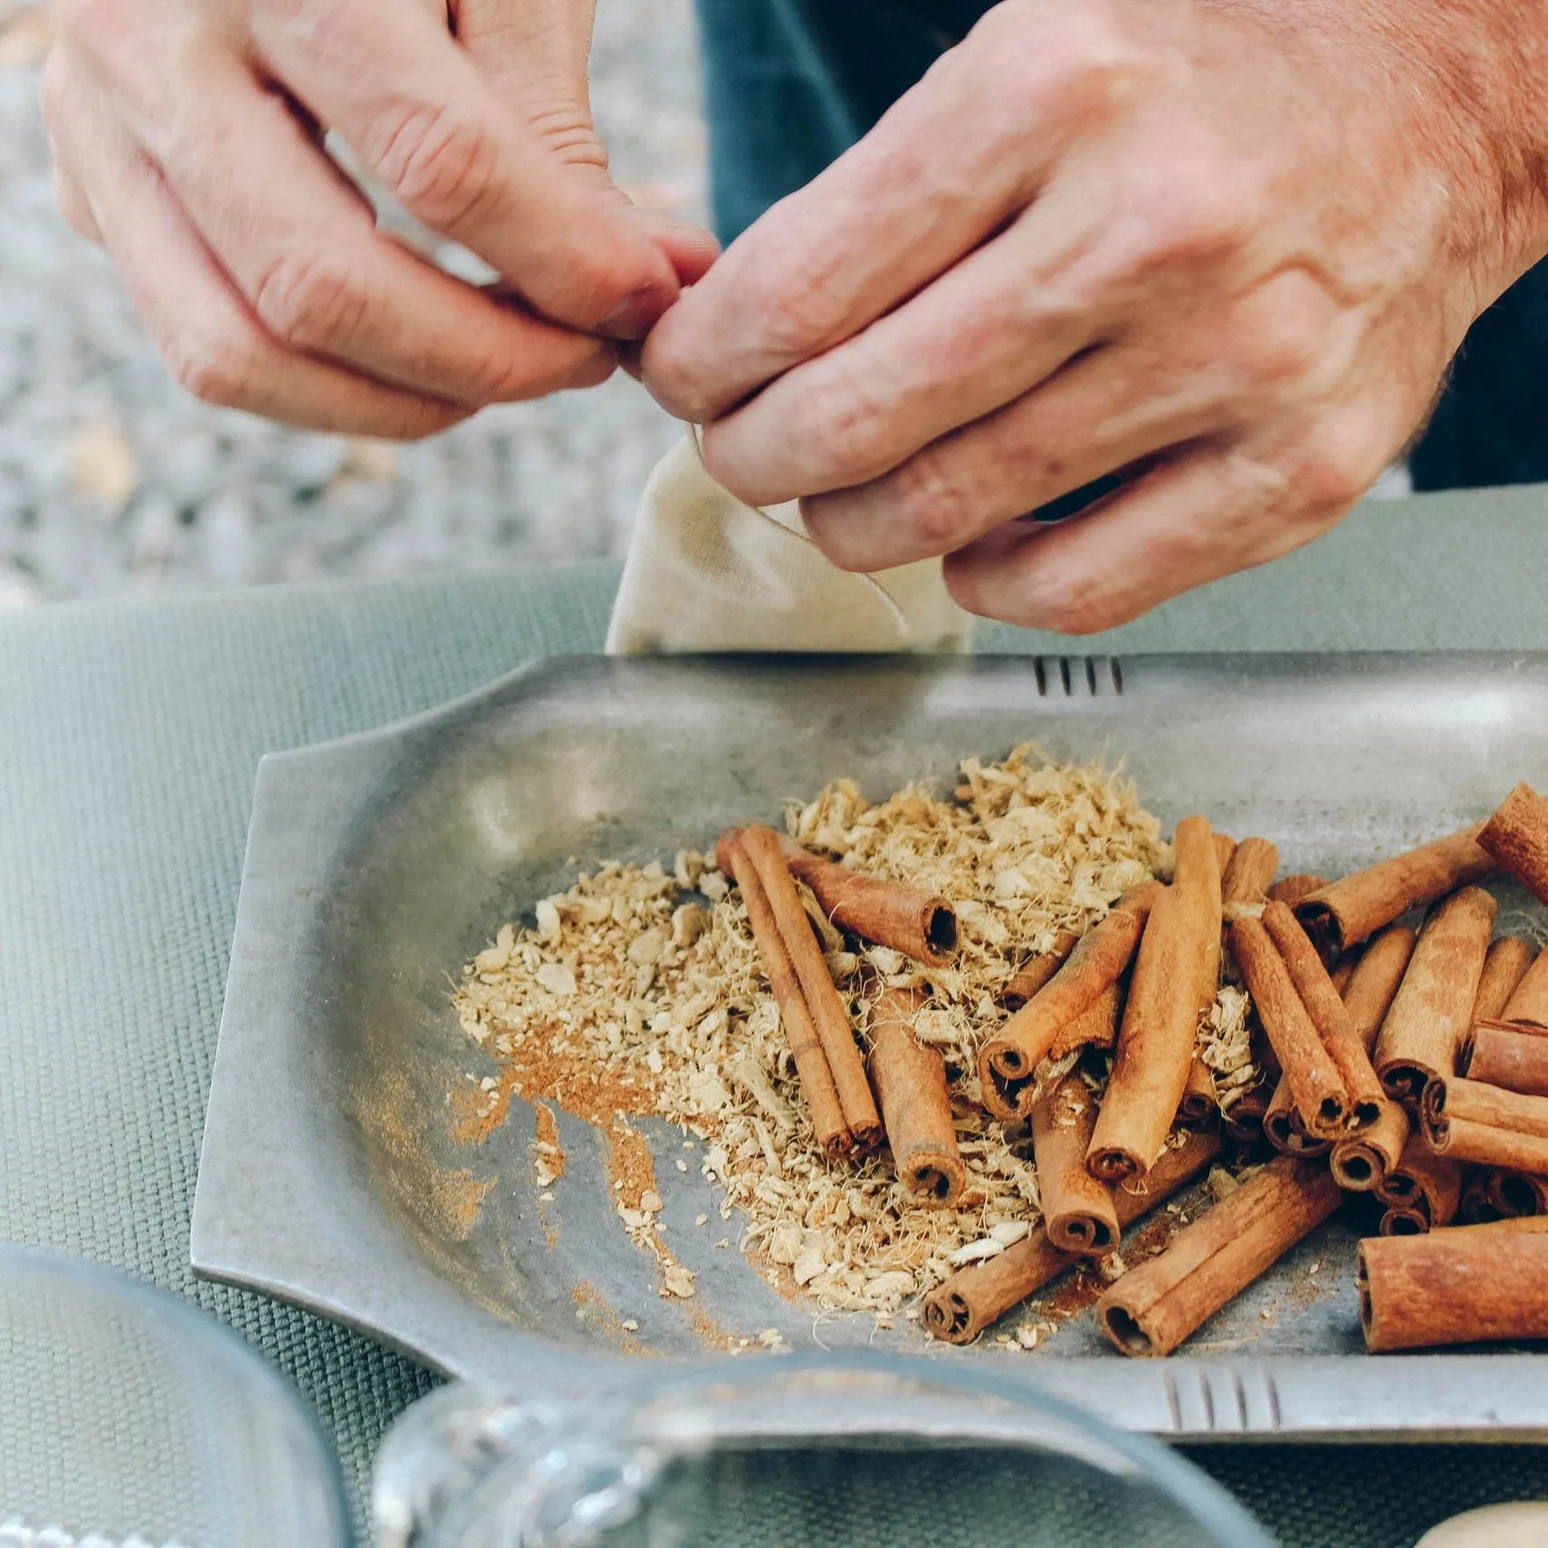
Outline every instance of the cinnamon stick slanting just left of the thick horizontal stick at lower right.
<path id="1" fill-rule="evenodd" d="M 1276 1156 L 1111 1285 L 1096 1303 L 1099 1327 L 1124 1354 L 1170 1354 L 1327 1220 L 1341 1197 L 1325 1166 Z"/>

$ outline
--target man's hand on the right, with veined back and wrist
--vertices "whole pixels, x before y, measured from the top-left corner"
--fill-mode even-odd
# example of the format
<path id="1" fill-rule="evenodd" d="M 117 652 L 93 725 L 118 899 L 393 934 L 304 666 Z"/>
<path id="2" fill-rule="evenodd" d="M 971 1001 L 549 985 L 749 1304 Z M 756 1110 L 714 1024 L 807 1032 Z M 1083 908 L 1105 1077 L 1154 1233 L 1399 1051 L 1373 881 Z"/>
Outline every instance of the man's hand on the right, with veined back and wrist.
<path id="1" fill-rule="evenodd" d="M 836 563 L 1121 624 L 1344 515 L 1548 249 L 1540 11 L 1005 0 L 684 294 L 647 385 Z"/>

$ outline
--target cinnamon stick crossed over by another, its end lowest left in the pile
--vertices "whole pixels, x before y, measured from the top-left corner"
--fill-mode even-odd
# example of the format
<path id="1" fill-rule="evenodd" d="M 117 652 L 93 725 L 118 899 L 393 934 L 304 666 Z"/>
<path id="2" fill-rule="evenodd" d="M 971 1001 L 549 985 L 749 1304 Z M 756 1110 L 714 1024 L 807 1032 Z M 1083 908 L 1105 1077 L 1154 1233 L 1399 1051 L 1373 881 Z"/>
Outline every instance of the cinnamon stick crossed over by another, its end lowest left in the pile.
<path id="1" fill-rule="evenodd" d="M 1220 1155 L 1220 1136 L 1207 1128 L 1184 1128 L 1146 1175 L 1113 1195 L 1119 1226 L 1128 1226 L 1156 1204 L 1184 1189 Z M 946 1344 L 971 1344 L 1011 1307 L 1026 1300 L 1084 1254 L 1056 1248 L 1042 1226 L 986 1263 L 957 1269 L 937 1285 L 920 1307 L 924 1331 Z"/>

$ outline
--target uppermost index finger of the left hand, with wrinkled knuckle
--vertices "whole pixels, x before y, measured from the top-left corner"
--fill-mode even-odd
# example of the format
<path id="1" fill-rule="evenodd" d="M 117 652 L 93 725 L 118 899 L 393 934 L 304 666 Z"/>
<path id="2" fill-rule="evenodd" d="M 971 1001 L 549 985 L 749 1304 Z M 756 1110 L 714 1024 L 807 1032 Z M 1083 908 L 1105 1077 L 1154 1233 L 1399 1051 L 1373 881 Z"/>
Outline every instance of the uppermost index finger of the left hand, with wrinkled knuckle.
<path id="1" fill-rule="evenodd" d="M 265 65 L 407 209 L 539 311 L 636 337 L 672 303 L 676 277 L 649 235 L 576 178 L 423 9 L 333 0 L 303 28 L 266 15 Z"/>

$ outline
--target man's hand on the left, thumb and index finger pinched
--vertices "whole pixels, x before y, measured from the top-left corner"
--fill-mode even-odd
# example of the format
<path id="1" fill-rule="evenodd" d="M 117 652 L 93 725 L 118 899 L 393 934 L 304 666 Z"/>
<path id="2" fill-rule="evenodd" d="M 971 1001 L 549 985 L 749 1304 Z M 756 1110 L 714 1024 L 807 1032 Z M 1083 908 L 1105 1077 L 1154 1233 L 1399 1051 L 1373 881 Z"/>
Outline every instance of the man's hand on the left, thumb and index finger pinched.
<path id="1" fill-rule="evenodd" d="M 59 0 L 43 77 L 71 224 L 178 381 L 314 429 L 415 437 L 610 375 L 714 257 L 607 178 L 590 0 Z M 494 291 L 376 231 L 336 130 Z M 605 336 L 605 337 L 604 337 Z"/>

